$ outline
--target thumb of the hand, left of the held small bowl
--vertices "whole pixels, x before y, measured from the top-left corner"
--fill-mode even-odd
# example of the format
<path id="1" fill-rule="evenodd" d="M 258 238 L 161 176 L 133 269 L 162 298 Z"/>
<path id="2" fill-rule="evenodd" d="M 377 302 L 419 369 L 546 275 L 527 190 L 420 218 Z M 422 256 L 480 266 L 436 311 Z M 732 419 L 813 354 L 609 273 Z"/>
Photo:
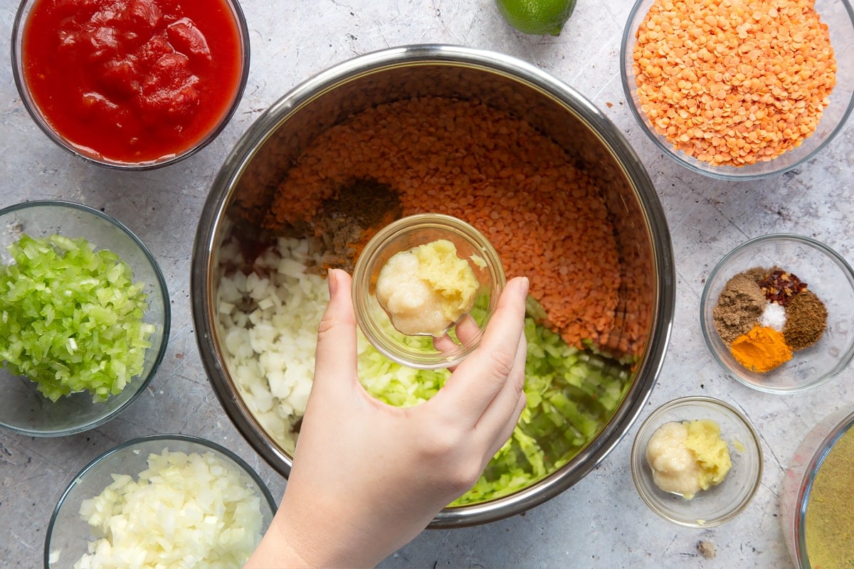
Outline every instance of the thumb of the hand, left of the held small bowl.
<path id="1" fill-rule="evenodd" d="M 350 294 L 351 279 L 343 270 L 330 269 L 329 305 L 318 326 L 313 389 L 340 392 L 342 377 L 356 379 L 356 317 Z M 331 393 L 330 393 L 331 394 Z"/>

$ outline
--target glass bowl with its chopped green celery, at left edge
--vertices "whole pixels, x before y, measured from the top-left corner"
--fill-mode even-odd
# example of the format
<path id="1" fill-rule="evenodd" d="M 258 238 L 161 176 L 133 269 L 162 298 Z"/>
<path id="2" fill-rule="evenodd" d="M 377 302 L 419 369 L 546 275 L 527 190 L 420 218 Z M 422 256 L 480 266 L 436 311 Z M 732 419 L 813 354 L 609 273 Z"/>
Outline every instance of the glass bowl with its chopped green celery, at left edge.
<path id="1" fill-rule="evenodd" d="M 81 204 L 0 210 L 0 426 L 97 427 L 149 385 L 166 351 L 166 282 L 130 229 Z"/>

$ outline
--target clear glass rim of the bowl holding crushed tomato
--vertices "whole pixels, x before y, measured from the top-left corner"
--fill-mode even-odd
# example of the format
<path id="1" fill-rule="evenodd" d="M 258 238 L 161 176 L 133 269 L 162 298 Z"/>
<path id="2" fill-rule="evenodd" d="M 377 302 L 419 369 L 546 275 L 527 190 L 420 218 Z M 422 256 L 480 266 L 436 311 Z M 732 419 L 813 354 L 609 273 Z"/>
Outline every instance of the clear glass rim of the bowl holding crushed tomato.
<path id="1" fill-rule="evenodd" d="M 223 2 L 231 8 L 231 14 L 234 16 L 234 23 L 237 26 L 237 37 L 240 39 L 243 55 L 240 58 L 240 78 L 237 81 L 237 89 L 234 92 L 234 98 L 226 108 L 225 113 L 220 117 L 217 124 L 213 126 L 213 129 L 208 131 L 205 136 L 202 136 L 202 138 L 199 139 L 199 141 L 192 147 L 184 150 L 184 152 L 180 154 L 173 154 L 169 158 L 165 158 L 163 160 L 148 162 L 117 162 L 114 160 L 102 160 L 95 156 L 90 156 L 80 152 L 77 148 L 74 148 L 73 145 L 65 142 L 62 136 L 60 136 L 59 133 L 50 126 L 47 119 L 41 117 L 41 112 L 38 111 L 38 105 L 36 105 L 35 102 L 32 102 L 31 104 L 29 100 L 30 90 L 26 87 L 26 81 L 18 69 L 19 62 L 23 65 L 18 44 L 19 38 L 23 38 L 24 30 L 26 28 L 26 22 L 22 21 L 24 9 L 27 6 L 32 6 L 32 4 L 36 2 L 38 2 L 38 0 L 20 0 L 18 7 L 15 9 L 15 17 L 12 20 L 12 32 L 10 34 L 11 46 L 9 51 L 12 65 L 12 78 L 15 83 L 15 89 L 18 91 L 21 104 L 30 115 L 30 118 L 32 118 L 32 121 L 38 126 L 39 130 L 44 132 L 44 134 L 54 142 L 56 146 L 62 148 L 75 158 L 83 160 L 89 164 L 117 171 L 146 171 L 163 168 L 167 165 L 173 165 L 176 162 L 190 158 L 190 156 L 196 154 L 198 151 L 202 150 L 202 148 L 207 147 L 208 144 L 213 142 L 213 140 L 225 130 L 225 126 L 231 122 L 231 118 L 234 116 L 234 113 L 237 112 L 237 107 L 243 100 L 243 93 L 249 82 L 249 54 L 251 51 L 249 45 L 249 24 L 246 20 L 246 16 L 243 14 L 243 8 L 240 6 L 239 0 L 223 0 Z"/>

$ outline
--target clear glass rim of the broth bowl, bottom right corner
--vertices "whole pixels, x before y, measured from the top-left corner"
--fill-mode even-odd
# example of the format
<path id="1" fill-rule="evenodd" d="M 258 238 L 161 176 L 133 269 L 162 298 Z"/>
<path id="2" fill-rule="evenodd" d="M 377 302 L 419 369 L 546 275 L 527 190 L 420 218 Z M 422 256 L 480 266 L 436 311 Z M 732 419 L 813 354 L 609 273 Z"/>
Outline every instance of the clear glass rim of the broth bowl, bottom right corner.
<path id="1" fill-rule="evenodd" d="M 783 478 L 783 491 L 780 496 L 780 523 L 786 538 L 786 547 L 798 569 L 810 569 L 810 555 L 807 550 L 807 509 L 822 465 L 835 445 L 854 428 L 854 411 L 845 406 L 819 421 L 807 433 Z M 839 500 L 851 503 L 851 494 L 839 496 Z M 818 498 L 821 499 L 821 498 Z M 845 502 L 843 502 L 843 505 Z M 845 520 L 839 520 L 844 525 Z"/>

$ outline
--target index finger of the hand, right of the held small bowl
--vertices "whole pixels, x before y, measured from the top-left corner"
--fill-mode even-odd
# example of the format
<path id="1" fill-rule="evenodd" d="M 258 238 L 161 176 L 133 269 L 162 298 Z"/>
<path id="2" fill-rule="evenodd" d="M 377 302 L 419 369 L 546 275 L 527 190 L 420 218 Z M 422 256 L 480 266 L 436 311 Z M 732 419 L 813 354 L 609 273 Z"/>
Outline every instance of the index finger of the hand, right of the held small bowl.
<path id="1" fill-rule="evenodd" d="M 448 420 L 464 421 L 467 427 L 474 427 L 505 386 L 508 375 L 518 368 L 527 295 L 527 278 L 514 278 L 507 283 L 477 350 L 459 364 L 445 386 L 430 400 L 436 402 L 437 408 L 453 413 Z M 519 373 L 524 380 L 524 355 L 521 359 L 523 365 Z"/>

